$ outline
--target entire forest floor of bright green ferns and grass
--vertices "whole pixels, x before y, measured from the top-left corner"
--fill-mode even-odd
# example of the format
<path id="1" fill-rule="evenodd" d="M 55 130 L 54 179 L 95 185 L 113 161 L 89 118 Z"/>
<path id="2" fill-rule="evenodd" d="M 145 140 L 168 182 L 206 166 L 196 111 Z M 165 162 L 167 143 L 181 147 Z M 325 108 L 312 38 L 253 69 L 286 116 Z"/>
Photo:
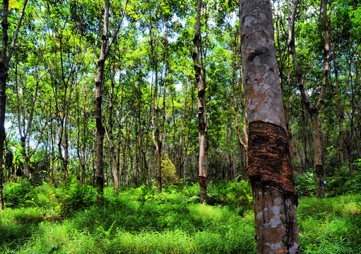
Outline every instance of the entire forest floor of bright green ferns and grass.
<path id="1" fill-rule="evenodd" d="M 97 207 L 90 186 L 11 183 L 0 253 L 256 253 L 248 184 L 211 183 L 211 205 L 197 193 L 196 184 L 105 188 Z M 302 253 L 361 253 L 361 194 L 303 198 L 297 215 Z"/>

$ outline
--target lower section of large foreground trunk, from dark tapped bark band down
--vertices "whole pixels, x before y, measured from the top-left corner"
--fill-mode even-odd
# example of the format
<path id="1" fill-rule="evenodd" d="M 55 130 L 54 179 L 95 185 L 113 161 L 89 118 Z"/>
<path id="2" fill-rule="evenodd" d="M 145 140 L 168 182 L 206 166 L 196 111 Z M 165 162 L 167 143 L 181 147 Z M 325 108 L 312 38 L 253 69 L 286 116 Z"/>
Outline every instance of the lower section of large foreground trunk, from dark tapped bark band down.
<path id="1" fill-rule="evenodd" d="M 283 127 L 263 121 L 249 123 L 249 179 L 257 253 L 300 253 L 297 193 Z"/>

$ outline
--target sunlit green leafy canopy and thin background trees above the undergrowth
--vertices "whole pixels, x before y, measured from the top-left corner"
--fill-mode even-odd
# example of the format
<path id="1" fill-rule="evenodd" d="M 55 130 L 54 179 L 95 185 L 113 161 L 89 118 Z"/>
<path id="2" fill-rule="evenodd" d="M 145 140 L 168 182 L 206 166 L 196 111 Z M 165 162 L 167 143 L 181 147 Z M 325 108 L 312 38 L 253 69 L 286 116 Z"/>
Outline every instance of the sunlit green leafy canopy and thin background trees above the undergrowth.
<path id="1" fill-rule="evenodd" d="M 3 182 L 26 176 L 95 184 L 97 133 L 104 139 L 106 186 L 148 186 L 158 176 L 162 185 L 196 182 L 196 3 L 28 1 L 22 16 L 23 4 L 8 2 L 8 28 L 1 30 L 3 53 L 12 51 L 1 58 L 9 60 Z M 295 16 L 285 1 L 273 1 L 272 8 L 297 191 L 316 194 L 308 181 L 316 181 L 322 164 L 326 195 L 336 194 L 333 184 L 344 184 L 347 192 L 361 158 L 360 3 L 328 1 L 327 38 L 318 1 L 300 1 Z M 203 1 L 199 63 L 206 84 L 208 181 L 247 179 L 239 24 L 237 1 Z"/>

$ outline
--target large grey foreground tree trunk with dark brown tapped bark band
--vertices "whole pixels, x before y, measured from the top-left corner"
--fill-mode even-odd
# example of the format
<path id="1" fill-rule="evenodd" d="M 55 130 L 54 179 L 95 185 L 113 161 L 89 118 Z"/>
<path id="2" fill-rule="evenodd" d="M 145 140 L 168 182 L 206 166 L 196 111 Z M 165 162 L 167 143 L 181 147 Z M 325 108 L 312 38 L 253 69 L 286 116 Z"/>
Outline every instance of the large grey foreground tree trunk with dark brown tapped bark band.
<path id="1" fill-rule="evenodd" d="M 240 16 L 257 253 L 300 253 L 271 1 L 243 0 Z"/>

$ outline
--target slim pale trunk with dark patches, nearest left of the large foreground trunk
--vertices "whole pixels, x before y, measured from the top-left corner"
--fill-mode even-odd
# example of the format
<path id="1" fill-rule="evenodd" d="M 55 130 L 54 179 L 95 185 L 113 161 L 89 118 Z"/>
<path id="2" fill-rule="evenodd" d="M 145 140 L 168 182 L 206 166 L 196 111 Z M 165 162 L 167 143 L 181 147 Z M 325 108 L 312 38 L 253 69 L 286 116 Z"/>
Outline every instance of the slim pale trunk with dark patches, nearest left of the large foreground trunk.
<path id="1" fill-rule="evenodd" d="M 201 204 L 207 200 L 207 122 L 206 122 L 206 85 L 203 82 L 199 64 L 199 46 L 201 44 L 201 10 L 202 0 L 197 0 L 196 34 L 194 35 L 194 71 L 198 85 L 198 130 L 199 130 L 199 188 Z"/>

